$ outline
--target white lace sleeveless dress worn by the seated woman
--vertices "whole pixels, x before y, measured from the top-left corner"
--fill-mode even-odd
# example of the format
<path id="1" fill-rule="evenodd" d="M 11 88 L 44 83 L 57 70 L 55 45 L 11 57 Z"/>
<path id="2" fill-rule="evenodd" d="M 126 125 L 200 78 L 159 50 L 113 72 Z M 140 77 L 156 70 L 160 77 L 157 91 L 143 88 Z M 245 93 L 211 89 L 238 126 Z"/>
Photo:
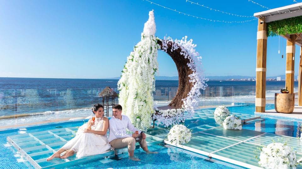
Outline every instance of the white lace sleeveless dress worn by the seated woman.
<path id="1" fill-rule="evenodd" d="M 83 126 L 80 128 L 82 127 Z M 95 118 L 95 122 L 94 125 L 91 126 L 91 130 L 102 131 L 102 129 L 103 118 Z M 80 130 L 81 129 L 77 132 L 75 138 L 68 141 L 62 147 L 65 150 L 73 150 L 76 153 L 77 158 L 103 154 L 113 149 L 107 141 L 107 133 L 105 136 L 101 136 L 92 133 L 83 133 L 83 131 Z"/>

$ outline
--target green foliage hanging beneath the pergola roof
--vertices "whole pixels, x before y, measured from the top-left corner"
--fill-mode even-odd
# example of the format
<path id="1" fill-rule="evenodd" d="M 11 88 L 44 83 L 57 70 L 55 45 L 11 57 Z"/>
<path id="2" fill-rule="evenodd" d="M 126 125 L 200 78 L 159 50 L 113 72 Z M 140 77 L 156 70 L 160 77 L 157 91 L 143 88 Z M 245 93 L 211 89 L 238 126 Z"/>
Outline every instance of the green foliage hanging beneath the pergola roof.
<path id="1" fill-rule="evenodd" d="M 302 16 L 269 22 L 266 27 L 268 37 L 302 33 Z"/>

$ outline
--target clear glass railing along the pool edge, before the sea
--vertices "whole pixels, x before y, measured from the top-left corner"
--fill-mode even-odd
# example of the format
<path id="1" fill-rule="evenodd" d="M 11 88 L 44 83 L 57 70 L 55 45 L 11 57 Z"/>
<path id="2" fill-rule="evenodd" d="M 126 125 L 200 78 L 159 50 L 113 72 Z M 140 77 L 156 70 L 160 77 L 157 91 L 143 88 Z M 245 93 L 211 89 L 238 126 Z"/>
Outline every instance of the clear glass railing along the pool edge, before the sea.
<path id="1" fill-rule="evenodd" d="M 266 87 L 266 100 L 274 100 L 274 93 L 282 86 Z M 117 88 L 112 88 L 119 93 Z M 16 89 L 0 90 L 0 127 L 70 117 L 92 115 L 91 107 L 106 100 L 98 94 L 103 88 L 90 89 Z M 175 97 L 177 87 L 156 88 L 153 92 L 157 106 L 168 105 Z M 297 88 L 295 88 L 297 92 Z M 201 90 L 199 107 L 231 105 L 232 102 L 254 102 L 254 86 L 208 86 Z M 118 98 L 109 100 L 117 104 Z M 273 103 L 273 102 L 272 102 Z M 105 112 L 112 115 L 110 106 Z M 13 119 L 13 120 L 12 120 Z"/>

